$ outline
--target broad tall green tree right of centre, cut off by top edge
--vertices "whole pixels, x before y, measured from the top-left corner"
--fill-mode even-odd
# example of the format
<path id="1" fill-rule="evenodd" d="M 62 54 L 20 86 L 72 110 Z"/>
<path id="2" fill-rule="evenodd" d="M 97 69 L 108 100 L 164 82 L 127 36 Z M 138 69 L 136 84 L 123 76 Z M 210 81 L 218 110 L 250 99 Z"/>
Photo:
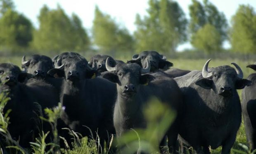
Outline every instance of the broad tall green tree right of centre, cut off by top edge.
<path id="1" fill-rule="evenodd" d="M 174 52 L 187 38 L 187 19 L 178 2 L 149 0 L 147 13 L 144 18 L 136 16 L 136 51 Z"/>

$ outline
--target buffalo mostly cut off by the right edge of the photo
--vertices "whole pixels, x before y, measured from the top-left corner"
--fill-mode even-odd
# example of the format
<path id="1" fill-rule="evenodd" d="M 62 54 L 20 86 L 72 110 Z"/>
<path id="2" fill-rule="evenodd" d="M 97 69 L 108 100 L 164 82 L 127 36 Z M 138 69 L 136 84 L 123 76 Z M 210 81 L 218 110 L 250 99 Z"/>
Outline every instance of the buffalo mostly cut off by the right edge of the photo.
<path id="1" fill-rule="evenodd" d="M 256 64 L 247 67 L 256 70 Z M 242 91 L 242 113 L 247 141 L 253 150 L 256 149 L 256 74 L 250 74 L 247 79 L 251 80 L 252 85 Z"/>

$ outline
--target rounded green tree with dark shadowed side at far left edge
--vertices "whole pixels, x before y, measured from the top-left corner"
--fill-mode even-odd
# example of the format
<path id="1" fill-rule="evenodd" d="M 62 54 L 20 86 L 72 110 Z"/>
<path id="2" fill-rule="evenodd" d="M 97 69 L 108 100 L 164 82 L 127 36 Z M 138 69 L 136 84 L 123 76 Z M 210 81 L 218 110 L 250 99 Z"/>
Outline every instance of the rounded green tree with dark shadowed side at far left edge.
<path id="1" fill-rule="evenodd" d="M 32 24 L 22 14 L 12 9 L 0 18 L 0 49 L 3 51 L 19 51 L 26 48 L 32 40 Z"/>

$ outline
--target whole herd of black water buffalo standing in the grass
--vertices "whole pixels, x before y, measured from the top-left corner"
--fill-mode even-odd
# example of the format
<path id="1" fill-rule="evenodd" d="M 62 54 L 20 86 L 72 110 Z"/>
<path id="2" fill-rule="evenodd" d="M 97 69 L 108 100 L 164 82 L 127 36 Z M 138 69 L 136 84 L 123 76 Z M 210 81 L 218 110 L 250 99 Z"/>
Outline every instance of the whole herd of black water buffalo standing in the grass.
<path id="1" fill-rule="evenodd" d="M 11 141 L 29 148 L 40 132 L 51 132 L 50 124 L 39 117 L 46 116 L 42 109 L 60 102 L 64 109 L 57 121 L 59 135 L 71 146 L 69 133 L 62 129 L 69 128 L 82 136 L 97 136 L 104 147 L 112 134 L 119 138 L 130 129 L 147 128 L 143 110 L 155 97 L 177 113 L 158 139 L 161 152 L 164 146 L 170 153 L 193 147 L 197 154 L 210 154 L 210 149 L 222 146 L 221 153 L 229 154 L 242 115 L 249 146 L 256 149 L 256 74 L 243 79 L 237 64 L 208 67 L 210 60 L 201 71 L 170 68 L 173 63 L 156 51 L 135 54 L 127 62 L 109 55 L 87 61 L 79 53 L 65 52 L 52 59 L 23 56 L 21 69 L 1 63 L 0 93 L 10 98 L 3 113 L 9 113 Z M 256 64 L 247 67 L 256 70 Z M 242 103 L 237 89 L 243 89 Z M 1 133 L 0 146 L 10 144 Z M 118 148 L 112 152 L 118 153 Z"/>

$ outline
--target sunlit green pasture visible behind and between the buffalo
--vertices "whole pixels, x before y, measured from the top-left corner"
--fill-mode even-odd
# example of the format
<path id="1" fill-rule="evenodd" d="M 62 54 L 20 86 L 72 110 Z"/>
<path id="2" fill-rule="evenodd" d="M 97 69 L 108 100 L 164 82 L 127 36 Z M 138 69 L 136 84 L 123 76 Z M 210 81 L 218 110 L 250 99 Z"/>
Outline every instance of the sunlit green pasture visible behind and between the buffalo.
<path id="1" fill-rule="evenodd" d="M 87 59 L 89 59 L 89 58 L 90 57 L 87 57 Z M 128 59 L 123 59 L 123 60 L 126 61 Z M 188 69 L 188 70 L 195 70 L 195 69 L 201 70 L 204 63 L 206 62 L 206 60 L 208 60 L 208 59 L 199 59 L 199 60 L 169 59 L 169 61 L 173 62 L 173 64 L 174 64 L 173 68 Z M 19 67 L 21 67 L 21 57 L 0 57 L 0 63 L 2 63 L 2 62 L 12 62 L 14 64 L 17 64 Z M 233 65 L 231 65 L 231 62 L 235 62 L 241 67 L 241 69 L 244 73 L 244 78 L 247 78 L 247 76 L 249 76 L 249 74 L 254 72 L 252 69 L 249 69 L 246 67 L 248 64 L 253 64 L 254 61 L 242 61 L 239 59 L 227 59 L 227 60 L 212 59 L 211 62 L 209 63 L 209 67 L 217 67 L 220 65 L 233 66 Z M 242 90 L 238 90 L 240 99 L 241 99 L 241 91 Z M 241 124 L 239 132 L 237 133 L 237 139 L 233 146 L 234 149 L 242 150 L 242 148 L 238 145 L 238 143 L 247 145 L 243 123 Z M 218 149 L 212 150 L 212 153 L 219 154 L 220 150 L 221 150 L 221 147 Z M 232 152 L 232 154 L 235 154 L 235 152 Z"/>

